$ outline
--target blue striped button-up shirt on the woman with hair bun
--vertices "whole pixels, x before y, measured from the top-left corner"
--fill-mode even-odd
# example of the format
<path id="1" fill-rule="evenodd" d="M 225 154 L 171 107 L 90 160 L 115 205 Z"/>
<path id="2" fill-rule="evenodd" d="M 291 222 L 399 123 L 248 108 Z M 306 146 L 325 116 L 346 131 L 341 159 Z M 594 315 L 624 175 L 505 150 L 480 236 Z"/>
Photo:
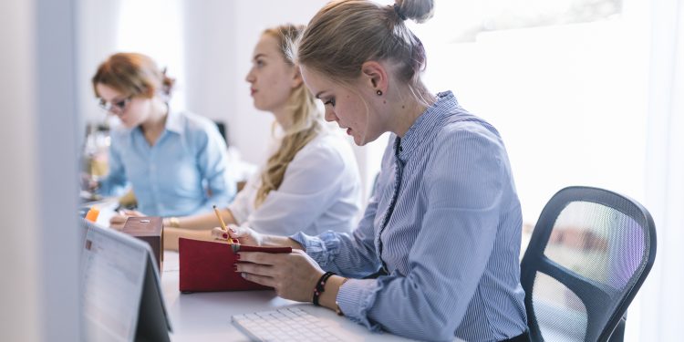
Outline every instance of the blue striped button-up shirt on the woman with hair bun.
<path id="1" fill-rule="evenodd" d="M 522 213 L 497 130 L 440 93 L 390 139 L 375 193 L 351 236 L 293 236 L 321 267 L 356 278 L 337 295 L 347 317 L 429 340 L 523 332 Z M 389 275 L 359 279 L 379 268 Z"/>

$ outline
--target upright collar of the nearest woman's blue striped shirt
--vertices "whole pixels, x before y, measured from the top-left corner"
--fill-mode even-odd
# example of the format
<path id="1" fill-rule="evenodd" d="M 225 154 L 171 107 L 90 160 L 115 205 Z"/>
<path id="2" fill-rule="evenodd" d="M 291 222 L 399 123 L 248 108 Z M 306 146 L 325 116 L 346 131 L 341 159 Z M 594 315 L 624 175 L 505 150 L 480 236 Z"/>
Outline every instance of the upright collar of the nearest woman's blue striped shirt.
<path id="1" fill-rule="evenodd" d="M 437 101 L 420 114 L 418 119 L 413 122 L 413 125 L 404 134 L 404 137 L 401 139 L 397 137 L 398 142 L 395 144 L 395 153 L 399 156 L 399 160 L 407 161 L 440 119 L 449 115 L 453 111 L 452 109 L 456 107 L 458 107 L 458 101 L 451 91 L 437 94 Z M 396 149 L 399 149 L 399 151 Z"/>

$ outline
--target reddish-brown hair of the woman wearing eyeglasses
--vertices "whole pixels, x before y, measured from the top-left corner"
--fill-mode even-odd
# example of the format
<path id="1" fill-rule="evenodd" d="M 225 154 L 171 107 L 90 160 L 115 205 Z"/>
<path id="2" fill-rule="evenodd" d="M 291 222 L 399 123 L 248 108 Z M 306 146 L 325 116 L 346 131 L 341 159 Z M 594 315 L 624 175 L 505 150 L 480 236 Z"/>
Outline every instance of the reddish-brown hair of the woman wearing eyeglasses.
<path id="1" fill-rule="evenodd" d="M 152 98 L 158 92 L 171 96 L 175 80 L 166 76 L 152 58 L 138 53 L 118 53 L 99 65 L 92 78 L 95 95 L 99 84 L 114 88 L 127 96 Z"/>

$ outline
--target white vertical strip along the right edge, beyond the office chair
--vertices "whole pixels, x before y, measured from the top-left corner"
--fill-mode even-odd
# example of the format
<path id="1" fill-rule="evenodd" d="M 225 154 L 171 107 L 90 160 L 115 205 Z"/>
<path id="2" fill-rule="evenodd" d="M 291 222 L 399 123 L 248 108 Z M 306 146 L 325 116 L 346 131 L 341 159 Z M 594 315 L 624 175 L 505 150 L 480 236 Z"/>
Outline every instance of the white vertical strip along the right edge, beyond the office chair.
<path id="1" fill-rule="evenodd" d="M 684 1 L 656 0 L 650 5 L 645 205 L 656 223 L 658 252 L 638 295 L 643 298 L 639 340 L 676 341 L 681 340 L 684 306 Z"/>

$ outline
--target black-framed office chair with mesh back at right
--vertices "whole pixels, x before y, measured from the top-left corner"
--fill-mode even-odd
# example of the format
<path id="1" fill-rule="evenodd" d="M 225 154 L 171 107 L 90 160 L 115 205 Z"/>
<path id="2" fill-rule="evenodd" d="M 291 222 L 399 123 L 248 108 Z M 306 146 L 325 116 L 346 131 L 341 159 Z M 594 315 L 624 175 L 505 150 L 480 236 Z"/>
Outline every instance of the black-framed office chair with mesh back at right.
<path id="1" fill-rule="evenodd" d="M 521 264 L 532 340 L 622 340 L 655 257 L 655 224 L 641 204 L 596 188 L 557 192 Z"/>

